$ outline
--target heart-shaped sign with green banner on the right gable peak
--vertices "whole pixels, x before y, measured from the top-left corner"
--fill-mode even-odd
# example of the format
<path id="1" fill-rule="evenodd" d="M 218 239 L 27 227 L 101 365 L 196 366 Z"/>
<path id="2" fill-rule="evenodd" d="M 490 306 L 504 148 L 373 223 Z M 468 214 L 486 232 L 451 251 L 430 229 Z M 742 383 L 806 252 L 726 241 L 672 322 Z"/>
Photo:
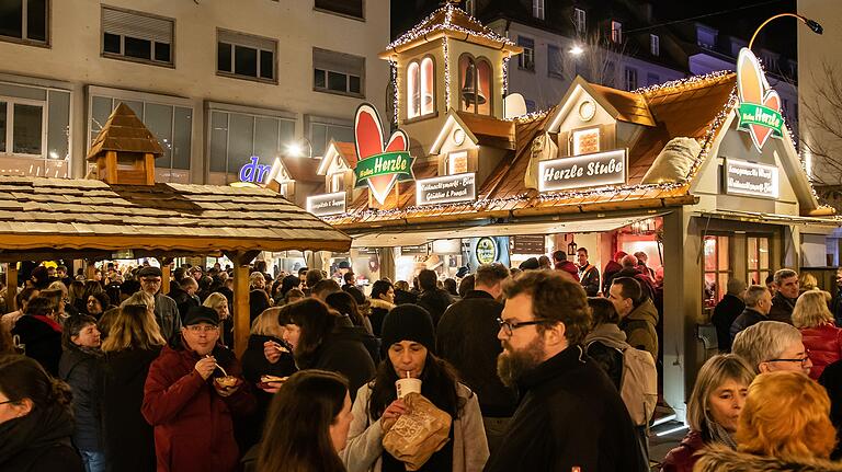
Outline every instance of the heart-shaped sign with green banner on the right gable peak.
<path id="1" fill-rule="evenodd" d="M 781 96 L 772 90 L 754 54 L 743 47 L 737 58 L 737 107 L 739 129 L 751 135 L 758 152 L 770 136 L 784 136 L 784 118 L 781 116 Z"/>

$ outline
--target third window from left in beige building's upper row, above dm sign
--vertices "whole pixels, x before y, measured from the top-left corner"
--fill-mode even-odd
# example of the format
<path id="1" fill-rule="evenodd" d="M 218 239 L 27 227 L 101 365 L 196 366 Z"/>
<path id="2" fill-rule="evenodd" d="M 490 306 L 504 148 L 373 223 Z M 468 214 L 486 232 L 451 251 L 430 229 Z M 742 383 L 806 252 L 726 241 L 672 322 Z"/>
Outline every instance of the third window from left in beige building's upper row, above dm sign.
<path id="1" fill-rule="evenodd" d="M 216 32 L 216 73 L 275 82 L 277 42 L 227 30 Z"/>

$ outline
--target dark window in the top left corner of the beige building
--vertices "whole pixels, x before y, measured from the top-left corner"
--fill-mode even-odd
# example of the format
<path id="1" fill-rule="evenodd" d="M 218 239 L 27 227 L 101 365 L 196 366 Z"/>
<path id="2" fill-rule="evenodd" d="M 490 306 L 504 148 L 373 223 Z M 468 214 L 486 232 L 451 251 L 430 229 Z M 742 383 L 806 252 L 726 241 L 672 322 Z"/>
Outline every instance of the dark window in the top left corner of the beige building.
<path id="1" fill-rule="evenodd" d="M 48 0 L 0 1 L 0 38 L 47 44 Z"/>

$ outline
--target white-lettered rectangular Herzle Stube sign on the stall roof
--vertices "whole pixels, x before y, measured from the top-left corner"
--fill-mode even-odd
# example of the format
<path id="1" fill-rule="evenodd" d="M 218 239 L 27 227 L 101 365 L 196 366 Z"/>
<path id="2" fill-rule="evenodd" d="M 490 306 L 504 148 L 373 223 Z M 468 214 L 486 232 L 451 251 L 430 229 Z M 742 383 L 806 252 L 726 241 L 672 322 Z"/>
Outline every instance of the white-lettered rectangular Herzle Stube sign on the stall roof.
<path id="1" fill-rule="evenodd" d="M 538 163 L 538 191 L 599 187 L 626 183 L 625 149 Z"/>

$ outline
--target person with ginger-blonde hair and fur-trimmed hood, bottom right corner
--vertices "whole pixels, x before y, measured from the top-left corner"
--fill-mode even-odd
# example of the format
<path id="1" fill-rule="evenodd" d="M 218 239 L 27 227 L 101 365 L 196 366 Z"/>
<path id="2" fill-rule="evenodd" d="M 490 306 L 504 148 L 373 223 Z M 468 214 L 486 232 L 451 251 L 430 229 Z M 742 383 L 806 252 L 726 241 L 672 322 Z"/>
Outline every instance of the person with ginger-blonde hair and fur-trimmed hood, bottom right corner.
<path id="1" fill-rule="evenodd" d="M 794 371 L 761 373 L 737 426 L 737 450 L 712 448 L 697 472 L 842 471 L 828 458 L 837 442 L 824 389 Z"/>

